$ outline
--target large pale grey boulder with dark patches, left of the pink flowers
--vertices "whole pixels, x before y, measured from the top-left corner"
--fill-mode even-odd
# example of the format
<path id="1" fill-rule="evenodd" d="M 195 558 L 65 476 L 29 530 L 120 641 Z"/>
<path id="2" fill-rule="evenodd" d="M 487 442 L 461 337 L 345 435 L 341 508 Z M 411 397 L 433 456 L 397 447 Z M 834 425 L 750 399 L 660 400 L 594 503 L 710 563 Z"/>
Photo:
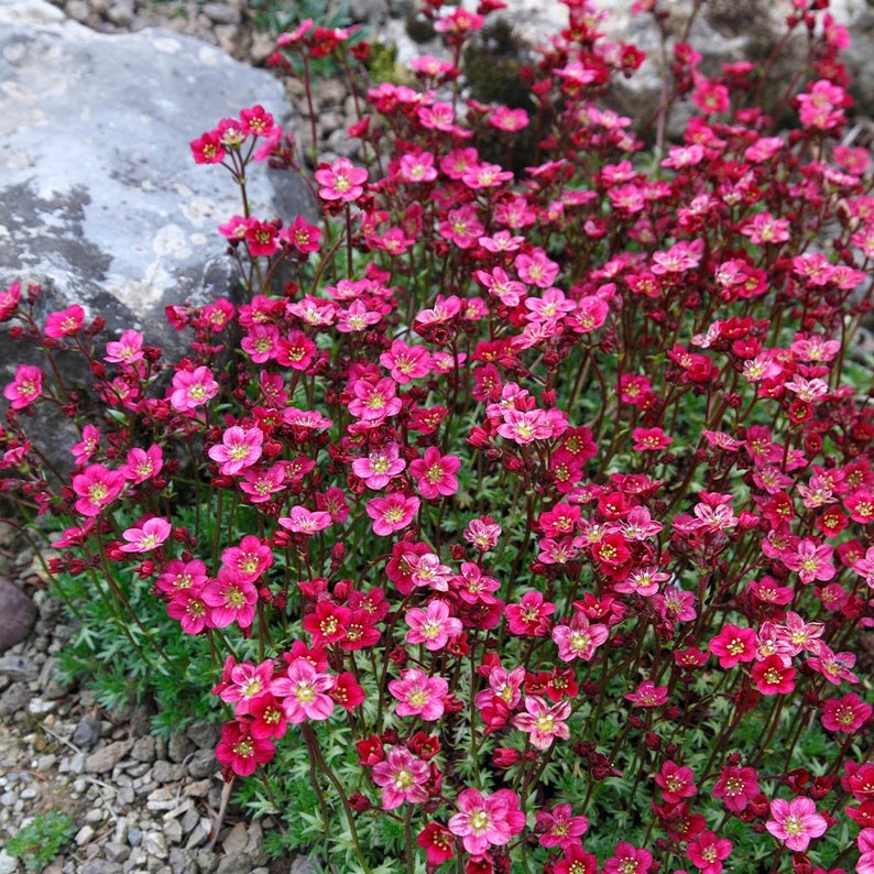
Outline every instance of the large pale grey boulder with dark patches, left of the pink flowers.
<path id="1" fill-rule="evenodd" d="M 254 103 L 287 124 L 282 84 L 218 48 L 157 29 L 99 34 L 41 0 L 0 0 L 0 288 L 42 284 L 46 309 L 78 303 L 172 345 L 164 307 L 236 280 L 217 226 L 241 212 L 238 187 L 188 143 Z M 248 187 L 255 215 L 312 208 L 299 178 L 264 171 Z"/>

